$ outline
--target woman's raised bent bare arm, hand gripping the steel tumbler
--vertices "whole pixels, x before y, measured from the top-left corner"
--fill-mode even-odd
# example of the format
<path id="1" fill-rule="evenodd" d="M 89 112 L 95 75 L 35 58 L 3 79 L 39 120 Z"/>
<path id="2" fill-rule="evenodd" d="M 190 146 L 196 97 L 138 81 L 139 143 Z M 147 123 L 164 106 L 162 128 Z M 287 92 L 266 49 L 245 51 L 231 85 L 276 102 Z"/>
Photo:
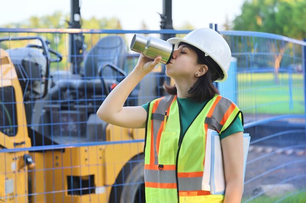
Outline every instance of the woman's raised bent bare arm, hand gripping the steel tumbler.
<path id="1" fill-rule="evenodd" d="M 140 107 L 123 107 L 131 91 L 141 79 L 159 63 L 161 57 L 155 60 L 139 56 L 137 65 L 124 80 L 122 80 L 107 96 L 97 111 L 102 120 L 124 128 L 144 128 L 147 111 Z"/>

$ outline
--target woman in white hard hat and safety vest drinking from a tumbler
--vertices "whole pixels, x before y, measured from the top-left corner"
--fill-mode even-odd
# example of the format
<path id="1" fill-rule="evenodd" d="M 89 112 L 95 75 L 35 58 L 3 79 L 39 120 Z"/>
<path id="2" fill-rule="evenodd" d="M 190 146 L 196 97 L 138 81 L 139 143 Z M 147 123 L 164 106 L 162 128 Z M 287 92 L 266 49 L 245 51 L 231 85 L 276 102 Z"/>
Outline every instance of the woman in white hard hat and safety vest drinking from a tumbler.
<path id="1" fill-rule="evenodd" d="M 97 115 L 125 128 L 146 127 L 146 203 L 240 203 L 243 188 L 242 113 L 218 95 L 213 81 L 224 81 L 231 61 L 226 41 L 214 30 L 197 29 L 171 38 L 175 51 L 166 74 L 169 96 L 137 107 L 123 107 L 140 80 L 160 62 L 140 55 L 137 65 L 110 92 Z M 220 134 L 225 195 L 201 188 L 208 129 Z"/>

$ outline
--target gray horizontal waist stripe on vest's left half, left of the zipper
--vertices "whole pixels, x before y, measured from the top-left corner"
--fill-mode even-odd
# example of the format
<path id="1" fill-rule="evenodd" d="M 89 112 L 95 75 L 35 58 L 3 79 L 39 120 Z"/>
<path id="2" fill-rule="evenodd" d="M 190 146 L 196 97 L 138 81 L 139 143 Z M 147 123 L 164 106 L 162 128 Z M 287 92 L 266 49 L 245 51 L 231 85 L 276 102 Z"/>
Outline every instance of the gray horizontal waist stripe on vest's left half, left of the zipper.
<path id="1" fill-rule="evenodd" d="M 175 170 L 145 170 L 145 182 L 175 183 Z"/>

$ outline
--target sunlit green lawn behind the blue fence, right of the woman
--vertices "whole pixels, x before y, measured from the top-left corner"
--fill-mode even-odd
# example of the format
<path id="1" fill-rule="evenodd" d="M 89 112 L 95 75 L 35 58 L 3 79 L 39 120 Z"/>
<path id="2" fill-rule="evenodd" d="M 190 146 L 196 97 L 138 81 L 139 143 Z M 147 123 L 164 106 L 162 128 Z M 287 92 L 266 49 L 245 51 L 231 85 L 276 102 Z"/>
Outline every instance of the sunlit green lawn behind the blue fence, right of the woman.
<path id="1" fill-rule="evenodd" d="M 303 74 L 238 74 L 238 104 L 244 113 L 304 114 Z"/>

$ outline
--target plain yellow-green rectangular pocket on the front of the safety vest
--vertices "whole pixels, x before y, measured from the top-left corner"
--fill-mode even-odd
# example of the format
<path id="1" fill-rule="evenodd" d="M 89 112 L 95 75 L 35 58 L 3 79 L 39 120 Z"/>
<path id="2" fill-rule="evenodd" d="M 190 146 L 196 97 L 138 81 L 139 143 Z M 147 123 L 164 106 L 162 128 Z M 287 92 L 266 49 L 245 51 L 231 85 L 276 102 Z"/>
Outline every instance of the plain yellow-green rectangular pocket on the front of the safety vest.
<path id="1" fill-rule="evenodd" d="M 175 164 L 174 143 L 175 132 L 162 132 L 160 136 L 158 149 L 158 164 L 173 165 Z"/>

